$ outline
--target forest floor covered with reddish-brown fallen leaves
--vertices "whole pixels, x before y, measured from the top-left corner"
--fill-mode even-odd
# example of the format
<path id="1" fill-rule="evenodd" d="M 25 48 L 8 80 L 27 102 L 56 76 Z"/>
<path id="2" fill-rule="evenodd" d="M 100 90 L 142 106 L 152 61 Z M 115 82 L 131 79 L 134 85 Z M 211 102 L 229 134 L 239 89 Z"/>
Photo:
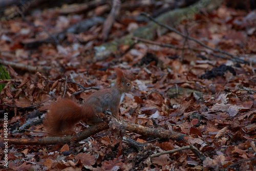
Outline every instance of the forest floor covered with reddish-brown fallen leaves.
<path id="1" fill-rule="evenodd" d="M 208 47 L 242 60 L 232 60 L 230 56 L 220 58 L 193 40 L 167 32 L 156 36 L 155 44 L 174 45 L 179 49 L 140 41 L 127 52 L 130 47 L 120 45 L 107 59 L 96 61 L 92 49 L 102 44 L 103 24 L 86 32 L 67 33 L 59 45 L 25 46 L 82 19 L 106 17 L 108 13 L 103 11 L 106 6 L 68 15 L 61 14 L 56 7 L 34 9 L 25 16 L 1 23 L 1 61 L 16 63 L 5 66 L 11 79 L 0 80 L 5 85 L 0 99 L 3 116 L 0 146 L 1 151 L 8 151 L 8 167 L 5 167 L 7 153 L 0 154 L 1 170 L 256 170 L 255 11 L 222 5 L 212 13 L 202 12 L 175 27 Z M 121 8 L 123 15 L 117 18 L 107 41 L 126 35 L 133 27 L 145 26 L 148 20 L 138 22 L 136 17 L 141 11 L 150 12 L 153 8 L 154 4 Z M 115 67 L 122 69 L 136 87 L 125 95 L 119 109 L 120 118 L 146 127 L 158 125 L 185 134 L 191 140 L 162 140 L 126 132 L 129 138 L 147 146 L 143 153 L 124 143 L 110 129 L 68 144 L 14 145 L 4 141 L 44 138 L 42 120 L 49 104 L 72 94 L 82 103 L 97 91 L 83 91 L 80 85 L 110 88 L 116 79 Z M 32 112 L 39 116 L 33 118 Z M 22 127 L 30 118 L 38 122 Z M 74 134 L 81 130 L 86 127 L 76 124 Z M 199 159 L 190 149 L 151 157 L 153 153 L 189 144 L 206 158 Z M 150 145 L 152 149 L 148 148 Z"/>

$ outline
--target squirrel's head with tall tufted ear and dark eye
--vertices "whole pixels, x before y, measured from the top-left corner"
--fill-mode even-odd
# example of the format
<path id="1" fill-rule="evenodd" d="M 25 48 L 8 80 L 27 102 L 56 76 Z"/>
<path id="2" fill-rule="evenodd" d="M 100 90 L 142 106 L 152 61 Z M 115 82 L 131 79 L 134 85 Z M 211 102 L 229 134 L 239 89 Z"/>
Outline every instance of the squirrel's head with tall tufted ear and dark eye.
<path id="1" fill-rule="evenodd" d="M 133 91 L 133 83 L 124 76 L 122 70 L 120 70 L 119 68 L 114 69 L 117 75 L 115 87 L 117 87 L 122 93 L 128 93 L 130 91 Z"/>

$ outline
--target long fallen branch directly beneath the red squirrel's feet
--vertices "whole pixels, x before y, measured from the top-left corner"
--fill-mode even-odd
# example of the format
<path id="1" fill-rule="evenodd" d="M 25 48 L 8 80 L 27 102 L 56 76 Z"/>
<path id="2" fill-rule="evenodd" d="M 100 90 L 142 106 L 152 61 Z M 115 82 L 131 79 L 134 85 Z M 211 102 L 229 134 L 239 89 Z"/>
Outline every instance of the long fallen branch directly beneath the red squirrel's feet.
<path id="1" fill-rule="evenodd" d="M 15 145 L 49 145 L 49 144 L 57 144 L 57 143 L 70 143 L 70 142 L 78 142 L 83 139 L 86 139 L 92 135 L 95 135 L 103 130 L 109 129 L 109 122 L 111 120 L 117 120 L 114 117 L 105 119 L 106 121 L 102 121 L 98 124 L 90 126 L 88 129 L 79 132 L 75 136 L 66 136 L 66 137 L 42 137 L 42 138 L 9 138 L 9 143 Z M 156 137 L 159 139 L 172 139 L 173 141 L 186 141 L 188 137 L 185 134 L 168 131 L 164 129 L 153 129 L 151 127 L 145 127 L 142 125 L 138 125 L 126 120 L 118 120 L 117 121 L 123 128 L 123 130 L 140 134 L 145 137 Z"/>

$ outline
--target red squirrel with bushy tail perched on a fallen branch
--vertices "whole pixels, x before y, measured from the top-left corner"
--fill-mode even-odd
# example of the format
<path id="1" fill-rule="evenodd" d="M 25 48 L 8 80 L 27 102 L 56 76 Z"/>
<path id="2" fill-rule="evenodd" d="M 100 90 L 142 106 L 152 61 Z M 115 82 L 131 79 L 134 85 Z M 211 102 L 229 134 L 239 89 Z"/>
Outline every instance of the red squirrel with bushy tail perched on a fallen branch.
<path id="1" fill-rule="evenodd" d="M 79 106 L 71 99 L 64 98 L 50 105 L 46 115 L 44 125 L 48 132 L 53 134 L 63 134 L 71 131 L 74 125 L 82 120 L 89 125 L 100 122 L 102 119 L 97 117 L 97 113 L 109 109 L 116 118 L 119 117 L 119 105 L 125 93 L 134 89 L 132 82 L 125 78 L 122 70 L 114 68 L 117 80 L 114 87 L 102 89 L 91 94 Z"/>

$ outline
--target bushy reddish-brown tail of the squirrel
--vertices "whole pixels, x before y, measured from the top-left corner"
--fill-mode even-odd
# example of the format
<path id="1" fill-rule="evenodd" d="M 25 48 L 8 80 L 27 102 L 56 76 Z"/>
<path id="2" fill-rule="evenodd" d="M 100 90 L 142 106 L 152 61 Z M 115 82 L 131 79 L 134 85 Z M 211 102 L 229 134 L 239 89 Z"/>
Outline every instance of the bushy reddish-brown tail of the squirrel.
<path id="1" fill-rule="evenodd" d="M 61 135 L 72 131 L 79 120 L 87 122 L 93 113 L 91 106 L 79 106 L 71 99 L 61 99 L 50 105 L 44 125 L 49 133 Z"/>

